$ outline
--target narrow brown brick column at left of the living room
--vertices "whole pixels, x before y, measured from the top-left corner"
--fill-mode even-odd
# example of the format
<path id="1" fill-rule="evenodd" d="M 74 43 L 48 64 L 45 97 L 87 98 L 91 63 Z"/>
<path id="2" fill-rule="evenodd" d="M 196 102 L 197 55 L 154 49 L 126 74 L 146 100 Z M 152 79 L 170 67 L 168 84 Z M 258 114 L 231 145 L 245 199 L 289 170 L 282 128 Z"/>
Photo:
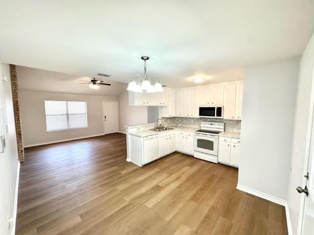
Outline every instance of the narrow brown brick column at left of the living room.
<path id="1" fill-rule="evenodd" d="M 16 75 L 15 65 L 10 65 L 11 88 L 14 110 L 14 121 L 16 131 L 16 141 L 18 143 L 18 158 L 21 163 L 24 162 L 23 136 L 20 116 L 19 94 L 18 94 L 18 78 Z"/>

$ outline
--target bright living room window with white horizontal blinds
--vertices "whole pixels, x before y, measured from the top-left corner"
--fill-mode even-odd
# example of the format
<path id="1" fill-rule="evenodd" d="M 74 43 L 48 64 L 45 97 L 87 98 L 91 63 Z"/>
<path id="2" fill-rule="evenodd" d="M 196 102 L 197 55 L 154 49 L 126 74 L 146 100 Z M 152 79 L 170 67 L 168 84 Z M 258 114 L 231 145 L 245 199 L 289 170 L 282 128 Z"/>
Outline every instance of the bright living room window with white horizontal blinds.
<path id="1" fill-rule="evenodd" d="M 47 131 L 87 127 L 86 102 L 45 100 Z"/>

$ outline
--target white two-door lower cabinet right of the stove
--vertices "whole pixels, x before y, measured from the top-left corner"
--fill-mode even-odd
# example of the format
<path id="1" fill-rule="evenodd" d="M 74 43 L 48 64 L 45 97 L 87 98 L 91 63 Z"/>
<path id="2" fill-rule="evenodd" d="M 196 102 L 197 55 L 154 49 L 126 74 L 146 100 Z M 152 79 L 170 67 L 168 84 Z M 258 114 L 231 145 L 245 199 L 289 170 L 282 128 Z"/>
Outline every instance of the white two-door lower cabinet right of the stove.
<path id="1" fill-rule="evenodd" d="M 239 167 L 240 140 L 219 137 L 218 162 Z"/>

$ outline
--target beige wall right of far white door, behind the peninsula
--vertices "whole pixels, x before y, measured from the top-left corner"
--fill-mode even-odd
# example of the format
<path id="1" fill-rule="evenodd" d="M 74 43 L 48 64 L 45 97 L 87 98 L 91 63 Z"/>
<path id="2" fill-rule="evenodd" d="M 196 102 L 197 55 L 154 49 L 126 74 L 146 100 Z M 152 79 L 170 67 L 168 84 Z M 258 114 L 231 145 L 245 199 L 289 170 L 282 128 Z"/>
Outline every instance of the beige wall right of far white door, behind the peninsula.
<path id="1" fill-rule="evenodd" d="M 126 132 L 126 125 L 146 124 L 147 106 L 129 106 L 129 93 L 125 91 L 119 97 L 119 120 L 121 132 Z"/>

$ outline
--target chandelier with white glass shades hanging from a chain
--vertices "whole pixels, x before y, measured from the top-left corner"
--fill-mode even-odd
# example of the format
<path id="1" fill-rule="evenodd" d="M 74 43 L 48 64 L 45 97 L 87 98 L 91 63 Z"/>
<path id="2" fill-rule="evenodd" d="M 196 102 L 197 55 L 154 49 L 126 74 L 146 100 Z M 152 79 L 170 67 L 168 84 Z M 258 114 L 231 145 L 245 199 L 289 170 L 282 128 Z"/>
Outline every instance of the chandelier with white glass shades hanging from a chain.
<path id="1" fill-rule="evenodd" d="M 146 92 L 146 93 L 154 93 L 154 92 L 163 92 L 163 88 L 159 79 L 155 75 L 151 75 L 147 77 L 146 74 L 146 61 L 149 60 L 148 56 L 142 56 L 142 60 L 144 60 L 144 77 L 141 75 L 134 75 L 129 82 L 128 91 L 132 92 Z M 153 85 L 152 80 L 156 79 L 156 83 Z"/>

